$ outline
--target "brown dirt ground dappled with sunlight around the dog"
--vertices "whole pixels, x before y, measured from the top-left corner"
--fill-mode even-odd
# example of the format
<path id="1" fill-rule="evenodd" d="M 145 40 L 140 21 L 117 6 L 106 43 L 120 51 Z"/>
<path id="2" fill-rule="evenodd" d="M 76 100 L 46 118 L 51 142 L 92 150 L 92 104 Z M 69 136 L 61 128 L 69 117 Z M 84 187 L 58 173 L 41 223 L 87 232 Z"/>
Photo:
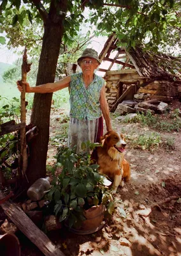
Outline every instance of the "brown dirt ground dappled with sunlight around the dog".
<path id="1" fill-rule="evenodd" d="M 58 116 L 63 111 L 52 111 L 50 138 L 61 132 Z M 142 134 L 147 130 L 140 124 L 123 124 L 115 118 L 112 124 L 115 131 L 124 131 L 128 138 L 129 134 Z M 141 150 L 131 147 L 133 136 L 127 140 L 126 159 L 131 164 L 131 181 L 117 190 L 115 213 L 105 227 L 84 236 L 73 234 L 68 228 L 48 234 L 65 255 L 181 256 L 181 199 L 178 200 L 181 198 L 181 131 L 157 132 L 164 138 L 175 139 L 171 150 L 164 147 Z M 55 154 L 56 146 L 50 142 L 48 164 L 55 163 Z M 164 203 L 171 196 L 177 198 Z M 18 237 L 22 256 L 43 255 L 24 236 Z"/>

